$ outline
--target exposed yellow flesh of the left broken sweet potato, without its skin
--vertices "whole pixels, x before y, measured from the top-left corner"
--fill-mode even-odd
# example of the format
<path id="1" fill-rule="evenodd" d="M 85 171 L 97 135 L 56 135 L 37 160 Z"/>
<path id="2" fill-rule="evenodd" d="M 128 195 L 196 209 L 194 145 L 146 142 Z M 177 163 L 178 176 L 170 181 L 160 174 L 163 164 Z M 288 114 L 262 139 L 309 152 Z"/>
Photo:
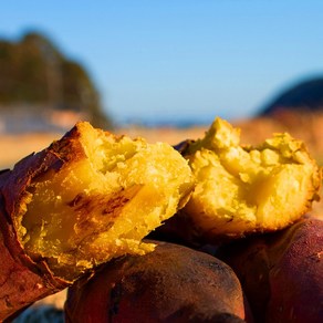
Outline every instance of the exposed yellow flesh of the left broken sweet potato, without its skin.
<path id="1" fill-rule="evenodd" d="M 77 126 L 84 157 L 33 180 L 18 219 L 29 254 L 45 258 L 64 279 L 152 251 L 142 239 L 185 205 L 192 187 L 187 162 L 171 146 Z"/>

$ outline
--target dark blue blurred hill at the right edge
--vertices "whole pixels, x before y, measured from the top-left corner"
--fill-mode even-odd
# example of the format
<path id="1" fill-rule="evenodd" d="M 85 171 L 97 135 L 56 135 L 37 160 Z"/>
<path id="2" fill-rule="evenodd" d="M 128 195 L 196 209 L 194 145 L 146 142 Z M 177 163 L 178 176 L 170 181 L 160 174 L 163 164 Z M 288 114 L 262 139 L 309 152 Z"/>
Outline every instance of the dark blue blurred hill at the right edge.
<path id="1" fill-rule="evenodd" d="M 274 116 L 282 111 L 323 112 L 323 76 L 291 86 L 265 105 L 259 115 Z"/>

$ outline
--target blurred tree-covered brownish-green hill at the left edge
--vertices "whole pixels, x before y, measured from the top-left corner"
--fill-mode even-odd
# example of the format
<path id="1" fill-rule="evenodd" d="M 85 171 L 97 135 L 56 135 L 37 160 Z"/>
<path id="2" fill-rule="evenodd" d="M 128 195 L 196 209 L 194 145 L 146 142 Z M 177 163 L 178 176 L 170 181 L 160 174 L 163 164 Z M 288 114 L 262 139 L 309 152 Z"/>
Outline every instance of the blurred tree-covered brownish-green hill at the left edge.
<path id="1" fill-rule="evenodd" d="M 28 32 L 17 42 L 0 40 L 0 118 L 19 106 L 24 110 L 21 115 L 69 111 L 95 126 L 112 125 L 84 66 L 39 32 Z"/>

